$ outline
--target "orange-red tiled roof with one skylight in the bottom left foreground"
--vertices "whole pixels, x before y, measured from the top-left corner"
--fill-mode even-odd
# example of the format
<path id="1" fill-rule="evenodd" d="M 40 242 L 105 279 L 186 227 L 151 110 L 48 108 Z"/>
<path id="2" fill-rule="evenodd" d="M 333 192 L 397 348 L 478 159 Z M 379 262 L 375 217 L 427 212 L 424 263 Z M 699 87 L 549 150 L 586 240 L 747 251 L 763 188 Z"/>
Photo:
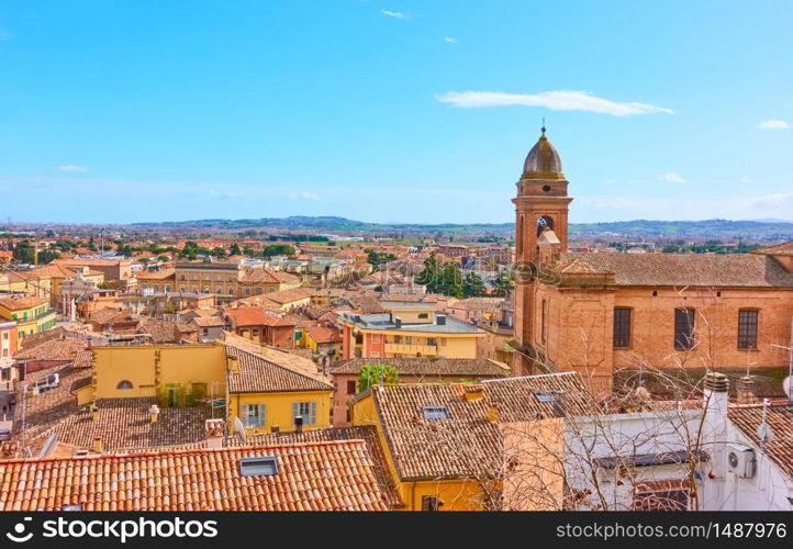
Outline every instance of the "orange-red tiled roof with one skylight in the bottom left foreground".
<path id="1" fill-rule="evenodd" d="M 239 461 L 276 458 L 272 475 Z M 0 509 L 387 511 L 362 440 L 0 462 Z"/>

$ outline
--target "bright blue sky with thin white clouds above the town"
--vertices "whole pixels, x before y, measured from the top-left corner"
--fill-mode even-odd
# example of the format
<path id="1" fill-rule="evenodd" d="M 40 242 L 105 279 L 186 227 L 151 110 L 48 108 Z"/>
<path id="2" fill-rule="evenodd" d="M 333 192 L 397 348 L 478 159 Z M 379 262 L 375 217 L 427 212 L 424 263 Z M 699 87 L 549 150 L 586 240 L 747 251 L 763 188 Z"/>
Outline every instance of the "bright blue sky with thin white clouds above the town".
<path id="1" fill-rule="evenodd" d="M 793 221 L 793 2 L 0 0 L 0 219 Z"/>

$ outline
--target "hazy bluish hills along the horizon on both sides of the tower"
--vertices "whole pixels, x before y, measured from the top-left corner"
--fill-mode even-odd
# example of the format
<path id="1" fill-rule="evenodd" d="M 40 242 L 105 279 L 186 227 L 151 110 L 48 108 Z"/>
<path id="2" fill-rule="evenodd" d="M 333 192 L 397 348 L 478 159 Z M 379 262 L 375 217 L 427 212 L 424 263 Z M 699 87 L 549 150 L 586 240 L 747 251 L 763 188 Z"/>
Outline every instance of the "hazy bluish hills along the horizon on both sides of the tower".
<path id="1" fill-rule="evenodd" d="M 259 220 L 196 220 L 161 223 L 134 223 L 141 228 L 213 228 L 246 229 L 277 228 L 283 231 L 309 231 L 327 233 L 469 233 L 509 236 L 514 233 L 513 223 L 366 223 L 336 216 L 263 217 Z M 763 221 L 617 221 L 601 223 L 572 223 L 573 236 L 645 237 L 645 238 L 752 238 L 764 240 L 793 240 L 793 222 Z"/>

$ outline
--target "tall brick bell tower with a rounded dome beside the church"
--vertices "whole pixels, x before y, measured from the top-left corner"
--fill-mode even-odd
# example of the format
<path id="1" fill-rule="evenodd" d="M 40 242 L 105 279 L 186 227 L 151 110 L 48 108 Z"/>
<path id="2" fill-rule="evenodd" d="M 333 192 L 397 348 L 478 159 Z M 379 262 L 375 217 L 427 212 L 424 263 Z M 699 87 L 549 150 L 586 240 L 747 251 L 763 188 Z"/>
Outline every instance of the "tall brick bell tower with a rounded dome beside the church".
<path id="1" fill-rule="evenodd" d="M 558 250 L 567 251 L 568 209 L 572 198 L 567 194 L 568 180 L 561 171 L 561 158 L 545 135 L 545 125 L 537 143 L 523 163 L 517 181 L 515 204 L 515 339 L 526 348 L 534 344 L 535 277 L 539 266 L 538 239 L 558 239 Z M 516 354 L 516 357 L 521 357 Z M 525 357 L 513 365 L 515 374 L 530 372 Z"/>

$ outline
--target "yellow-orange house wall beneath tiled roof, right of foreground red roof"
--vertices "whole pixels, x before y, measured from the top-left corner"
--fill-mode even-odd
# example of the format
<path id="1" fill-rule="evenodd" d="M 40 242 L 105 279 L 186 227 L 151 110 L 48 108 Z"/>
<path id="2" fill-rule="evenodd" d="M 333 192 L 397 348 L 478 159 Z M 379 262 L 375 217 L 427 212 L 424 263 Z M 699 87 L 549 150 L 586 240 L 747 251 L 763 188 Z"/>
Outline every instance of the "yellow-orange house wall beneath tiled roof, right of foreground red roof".
<path id="1" fill-rule="evenodd" d="M 442 503 L 440 511 L 482 509 L 482 489 L 476 481 L 467 479 L 402 481 L 399 478 L 375 407 L 375 400 L 370 394 L 361 396 L 353 404 L 351 423 L 356 426 L 373 425 L 377 428 L 380 447 L 386 453 L 389 470 L 405 505 L 404 511 L 422 511 L 422 496 L 425 495 L 437 496 Z"/>

